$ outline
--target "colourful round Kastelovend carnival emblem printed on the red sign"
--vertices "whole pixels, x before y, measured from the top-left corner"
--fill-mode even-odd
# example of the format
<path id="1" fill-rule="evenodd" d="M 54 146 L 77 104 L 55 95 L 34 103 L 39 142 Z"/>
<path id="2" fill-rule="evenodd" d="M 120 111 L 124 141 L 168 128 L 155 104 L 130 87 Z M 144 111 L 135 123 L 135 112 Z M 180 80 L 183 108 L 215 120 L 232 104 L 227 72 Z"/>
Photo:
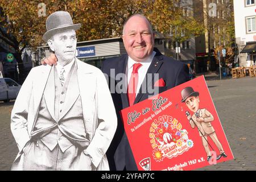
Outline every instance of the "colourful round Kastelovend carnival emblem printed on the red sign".
<path id="1" fill-rule="evenodd" d="M 170 115 L 162 115 L 152 122 L 149 137 L 156 162 L 174 158 L 193 147 L 187 130 L 182 129 L 181 123 Z"/>

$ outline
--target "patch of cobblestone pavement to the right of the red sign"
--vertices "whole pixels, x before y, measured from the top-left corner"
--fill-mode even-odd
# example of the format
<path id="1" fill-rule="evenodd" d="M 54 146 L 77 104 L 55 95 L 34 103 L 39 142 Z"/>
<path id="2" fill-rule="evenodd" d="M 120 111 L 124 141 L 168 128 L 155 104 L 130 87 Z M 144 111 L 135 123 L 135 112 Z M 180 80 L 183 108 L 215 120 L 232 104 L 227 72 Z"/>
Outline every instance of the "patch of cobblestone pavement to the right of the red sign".
<path id="1" fill-rule="evenodd" d="M 234 160 L 199 170 L 256 170 L 256 78 L 207 81 Z"/>

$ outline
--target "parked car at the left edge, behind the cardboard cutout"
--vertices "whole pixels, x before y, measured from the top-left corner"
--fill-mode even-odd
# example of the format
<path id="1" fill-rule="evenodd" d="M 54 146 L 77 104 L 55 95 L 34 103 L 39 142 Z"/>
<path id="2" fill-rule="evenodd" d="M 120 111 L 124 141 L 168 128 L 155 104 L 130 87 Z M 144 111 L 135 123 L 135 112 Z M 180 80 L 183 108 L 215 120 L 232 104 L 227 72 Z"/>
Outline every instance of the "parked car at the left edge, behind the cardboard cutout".
<path id="1" fill-rule="evenodd" d="M 0 78 L 0 101 L 9 102 L 18 96 L 21 85 L 11 78 Z"/>

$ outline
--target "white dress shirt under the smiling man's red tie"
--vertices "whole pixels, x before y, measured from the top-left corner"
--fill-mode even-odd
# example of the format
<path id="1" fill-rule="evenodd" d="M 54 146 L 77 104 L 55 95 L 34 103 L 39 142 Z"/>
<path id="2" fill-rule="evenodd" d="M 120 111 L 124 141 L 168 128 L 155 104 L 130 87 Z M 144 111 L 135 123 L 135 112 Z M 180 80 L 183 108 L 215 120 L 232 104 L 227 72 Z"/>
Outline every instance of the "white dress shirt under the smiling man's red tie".
<path id="1" fill-rule="evenodd" d="M 147 70 L 148 68 L 150 67 L 150 64 L 155 56 L 156 52 L 153 51 L 151 53 L 151 55 L 144 61 L 142 62 L 137 62 L 137 61 L 134 61 L 133 59 L 131 59 L 131 57 L 129 56 L 128 57 L 128 63 L 127 63 L 127 67 L 126 67 L 126 76 L 127 76 L 127 85 L 129 84 L 129 81 L 130 81 L 130 78 L 131 78 L 131 72 L 133 72 L 133 65 L 135 63 L 141 63 L 142 66 L 138 69 L 138 85 L 137 85 L 137 90 L 136 90 L 136 96 L 139 92 L 139 89 L 141 88 L 141 84 L 147 74 Z"/>

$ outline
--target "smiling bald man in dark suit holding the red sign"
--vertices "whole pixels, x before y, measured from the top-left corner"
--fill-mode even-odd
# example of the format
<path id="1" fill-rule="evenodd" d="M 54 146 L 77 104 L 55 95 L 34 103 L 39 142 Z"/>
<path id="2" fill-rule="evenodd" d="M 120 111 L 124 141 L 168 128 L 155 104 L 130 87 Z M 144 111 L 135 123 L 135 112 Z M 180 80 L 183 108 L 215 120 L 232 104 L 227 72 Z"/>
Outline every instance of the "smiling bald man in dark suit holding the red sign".
<path id="1" fill-rule="evenodd" d="M 154 49 L 154 38 L 145 16 L 130 16 L 122 35 L 127 54 L 106 59 L 102 65 L 118 115 L 117 131 L 106 153 L 110 170 L 138 170 L 119 111 L 188 81 L 188 66 Z M 44 61 L 55 63 L 52 60 Z"/>

